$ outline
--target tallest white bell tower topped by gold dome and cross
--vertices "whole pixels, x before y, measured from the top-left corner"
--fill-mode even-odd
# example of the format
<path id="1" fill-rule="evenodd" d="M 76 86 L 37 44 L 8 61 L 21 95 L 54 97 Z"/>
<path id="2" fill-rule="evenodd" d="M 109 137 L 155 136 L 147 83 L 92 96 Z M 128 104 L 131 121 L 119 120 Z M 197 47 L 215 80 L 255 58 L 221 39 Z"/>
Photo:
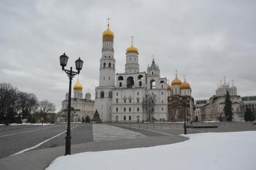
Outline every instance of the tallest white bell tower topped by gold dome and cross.
<path id="1" fill-rule="evenodd" d="M 112 120 L 112 90 L 115 87 L 114 33 L 109 29 L 102 33 L 102 57 L 100 59 L 99 86 L 95 89 L 95 111 L 102 122 Z"/>

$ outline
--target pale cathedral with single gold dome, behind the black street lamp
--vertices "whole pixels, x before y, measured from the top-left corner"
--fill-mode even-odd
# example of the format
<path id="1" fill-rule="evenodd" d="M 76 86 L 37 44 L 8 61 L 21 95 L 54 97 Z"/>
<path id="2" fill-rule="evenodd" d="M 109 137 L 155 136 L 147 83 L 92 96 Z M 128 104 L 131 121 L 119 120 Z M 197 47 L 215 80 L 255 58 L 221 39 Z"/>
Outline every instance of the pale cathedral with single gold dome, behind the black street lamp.
<path id="1" fill-rule="evenodd" d="M 94 101 L 91 100 L 91 93 L 87 92 L 85 98 L 82 93 L 83 87 L 78 80 L 73 86 L 73 98 L 71 98 L 71 122 L 82 122 L 85 117 L 93 118 Z M 61 102 L 61 110 L 57 113 L 57 122 L 67 122 L 67 108 L 69 105 L 69 93 L 66 93 L 66 99 Z"/>

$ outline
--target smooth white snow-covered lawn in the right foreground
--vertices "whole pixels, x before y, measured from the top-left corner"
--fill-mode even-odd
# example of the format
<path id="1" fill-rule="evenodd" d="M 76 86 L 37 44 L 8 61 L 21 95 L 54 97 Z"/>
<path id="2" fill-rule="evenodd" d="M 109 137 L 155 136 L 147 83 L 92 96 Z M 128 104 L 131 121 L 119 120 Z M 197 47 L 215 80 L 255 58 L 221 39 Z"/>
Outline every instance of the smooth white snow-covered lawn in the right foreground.
<path id="1" fill-rule="evenodd" d="M 198 133 L 169 145 L 61 156 L 54 169 L 256 169 L 256 131 Z"/>

